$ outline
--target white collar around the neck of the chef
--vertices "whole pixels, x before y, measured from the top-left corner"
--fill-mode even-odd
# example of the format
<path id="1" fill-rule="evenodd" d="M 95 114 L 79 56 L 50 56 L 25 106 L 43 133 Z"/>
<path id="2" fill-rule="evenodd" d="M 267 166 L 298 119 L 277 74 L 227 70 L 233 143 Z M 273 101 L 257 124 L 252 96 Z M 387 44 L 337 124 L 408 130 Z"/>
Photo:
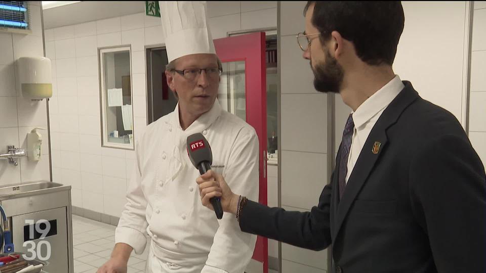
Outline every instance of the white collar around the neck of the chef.
<path id="1" fill-rule="evenodd" d="M 219 105 L 218 99 L 215 99 L 213 107 L 208 112 L 202 114 L 198 119 L 192 122 L 189 127 L 187 127 L 184 132 L 192 134 L 195 132 L 201 132 L 213 124 L 216 119 L 221 115 L 221 106 Z M 179 120 L 179 103 L 177 103 L 174 112 L 172 112 L 171 123 L 176 128 L 182 131 L 181 123 Z"/>

